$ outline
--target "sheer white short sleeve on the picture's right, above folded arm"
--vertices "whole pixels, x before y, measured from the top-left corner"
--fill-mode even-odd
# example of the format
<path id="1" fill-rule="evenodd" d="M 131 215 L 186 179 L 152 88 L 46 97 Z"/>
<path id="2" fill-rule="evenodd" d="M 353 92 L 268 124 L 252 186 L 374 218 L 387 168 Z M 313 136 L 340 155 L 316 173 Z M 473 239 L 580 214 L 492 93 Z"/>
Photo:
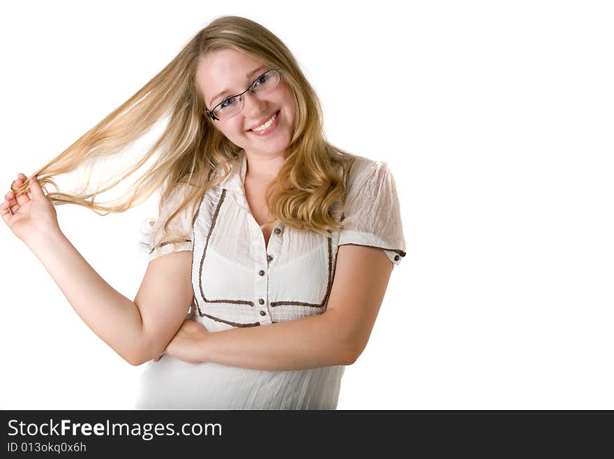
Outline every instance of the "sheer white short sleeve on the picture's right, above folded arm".
<path id="1" fill-rule="evenodd" d="M 338 245 L 383 249 L 398 265 L 405 256 L 405 236 L 396 182 L 385 161 L 364 161 L 350 169 Z"/>

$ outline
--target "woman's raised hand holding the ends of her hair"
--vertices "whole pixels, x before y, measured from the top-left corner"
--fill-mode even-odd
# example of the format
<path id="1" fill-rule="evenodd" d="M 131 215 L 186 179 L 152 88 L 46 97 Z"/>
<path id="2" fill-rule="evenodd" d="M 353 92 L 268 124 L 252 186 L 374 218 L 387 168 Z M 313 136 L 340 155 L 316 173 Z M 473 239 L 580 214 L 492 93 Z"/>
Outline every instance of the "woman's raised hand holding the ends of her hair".
<path id="1" fill-rule="evenodd" d="M 18 174 L 14 183 L 21 185 L 26 178 Z M 2 219 L 10 231 L 27 245 L 41 235 L 60 231 L 55 207 L 45 196 L 36 176 L 29 178 L 29 187 L 19 196 L 15 197 L 15 193 L 9 191 L 4 197 L 5 201 L 0 205 Z"/>

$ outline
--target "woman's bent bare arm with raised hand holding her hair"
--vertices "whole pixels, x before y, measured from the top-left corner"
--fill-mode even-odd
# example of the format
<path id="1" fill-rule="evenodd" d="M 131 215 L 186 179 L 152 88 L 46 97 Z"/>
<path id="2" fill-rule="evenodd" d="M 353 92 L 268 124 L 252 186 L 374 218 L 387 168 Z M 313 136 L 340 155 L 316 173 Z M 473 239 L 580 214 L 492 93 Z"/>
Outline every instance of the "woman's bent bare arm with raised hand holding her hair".
<path id="1" fill-rule="evenodd" d="M 20 186 L 27 177 L 17 175 Z M 159 353 L 177 333 L 192 302 L 191 253 L 158 256 L 134 301 L 112 289 L 59 228 L 57 212 L 35 175 L 19 194 L 9 191 L 0 216 L 43 263 L 73 309 L 98 337 L 133 365 Z"/>

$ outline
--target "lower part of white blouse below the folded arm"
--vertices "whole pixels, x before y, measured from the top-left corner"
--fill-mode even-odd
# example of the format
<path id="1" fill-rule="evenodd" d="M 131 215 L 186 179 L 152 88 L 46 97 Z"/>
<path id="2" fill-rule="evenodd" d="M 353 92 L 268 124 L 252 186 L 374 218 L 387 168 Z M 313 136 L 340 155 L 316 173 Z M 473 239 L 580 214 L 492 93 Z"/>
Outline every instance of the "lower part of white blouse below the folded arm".
<path id="1" fill-rule="evenodd" d="M 170 356 L 146 365 L 136 409 L 336 409 L 345 370 L 254 370 Z"/>

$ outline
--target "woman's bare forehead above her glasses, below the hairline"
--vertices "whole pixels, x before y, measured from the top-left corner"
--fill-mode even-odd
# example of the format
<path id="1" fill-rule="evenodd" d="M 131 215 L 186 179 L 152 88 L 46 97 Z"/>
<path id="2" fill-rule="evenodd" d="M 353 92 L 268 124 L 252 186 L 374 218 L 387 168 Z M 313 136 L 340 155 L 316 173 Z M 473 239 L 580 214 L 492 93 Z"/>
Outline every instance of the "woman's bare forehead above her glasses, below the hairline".
<path id="1" fill-rule="evenodd" d="M 216 95 L 220 92 L 243 91 L 246 83 L 252 81 L 246 74 L 260 66 L 262 62 L 237 50 L 216 50 L 200 57 L 196 81 L 205 103 L 214 97 L 219 99 Z"/>

